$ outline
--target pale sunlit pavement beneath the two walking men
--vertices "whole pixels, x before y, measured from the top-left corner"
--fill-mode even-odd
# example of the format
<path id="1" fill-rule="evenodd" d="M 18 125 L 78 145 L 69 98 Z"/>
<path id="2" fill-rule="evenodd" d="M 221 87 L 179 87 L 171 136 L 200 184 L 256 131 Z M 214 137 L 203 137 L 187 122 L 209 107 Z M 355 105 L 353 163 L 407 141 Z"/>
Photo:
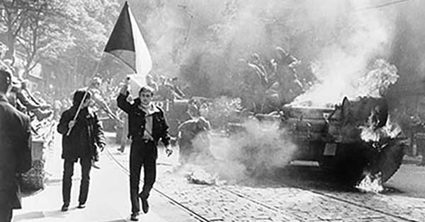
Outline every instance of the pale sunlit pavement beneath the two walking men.
<path id="1" fill-rule="evenodd" d="M 74 167 L 72 201 L 69 211 L 62 212 L 62 165 L 60 158 L 60 135 L 55 135 L 55 144 L 47 150 L 46 170 L 49 180 L 44 190 L 30 197 L 23 198 L 23 209 L 13 211 L 12 221 L 48 221 L 48 222 L 120 222 L 130 221 L 130 198 L 128 175 L 103 152 L 101 170 L 91 170 L 91 184 L 86 209 L 77 209 L 81 168 L 79 163 Z M 110 150 L 113 146 L 108 146 Z M 164 211 L 164 207 L 172 208 L 157 194 L 149 198 L 151 210 L 141 214 L 139 221 L 165 221 L 155 213 L 156 209 Z M 168 205 L 167 205 L 168 204 Z M 175 207 L 174 207 L 175 208 Z M 171 214 L 182 214 L 179 209 L 169 211 Z M 183 213 L 183 216 L 186 216 Z M 165 216 L 170 217 L 169 215 Z M 187 215 L 189 217 L 189 215 Z"/>

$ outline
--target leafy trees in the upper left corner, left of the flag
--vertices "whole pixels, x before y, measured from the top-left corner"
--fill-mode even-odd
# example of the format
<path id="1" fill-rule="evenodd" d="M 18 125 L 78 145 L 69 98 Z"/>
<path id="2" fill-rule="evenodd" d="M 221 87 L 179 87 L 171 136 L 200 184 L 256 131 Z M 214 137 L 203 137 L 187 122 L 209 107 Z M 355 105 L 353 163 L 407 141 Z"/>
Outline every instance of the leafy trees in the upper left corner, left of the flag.
<path id="1" fill-rule="evenodd" d="M 100 3 L 100 4 L 99 4 Z M 24 54 L 24 74 L 38 63 L 78 70 L 79 61 L 99 59 L 118 15 L 113 0 L 4 0 L 0 23 L 6 27 L 6 58 Z M 62 61 L 60 61 L 62 60 Z M 73 61 L 74 60 L 74 61 Z"/>

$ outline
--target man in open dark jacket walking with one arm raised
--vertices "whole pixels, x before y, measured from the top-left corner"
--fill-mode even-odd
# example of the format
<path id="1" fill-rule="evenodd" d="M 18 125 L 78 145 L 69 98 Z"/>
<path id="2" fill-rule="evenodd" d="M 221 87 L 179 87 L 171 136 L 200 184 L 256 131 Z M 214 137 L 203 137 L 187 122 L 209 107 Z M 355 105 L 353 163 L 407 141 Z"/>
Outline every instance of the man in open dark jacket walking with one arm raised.
<path id="1" fill-rule="evenodd" d="M 129 79 L 120 90 L 117 102 L 118 107 L 128 114 L 128 129 L 131 141 L 130 145 L 130 201 L 132 205 L 131 220 L 138 221 L 140 202 L 142 210 L 146 214 L 149 211 L 147 198 L 155 182 L 157 175 L 157 144 L 159 139 L 166 146 L 166 153 L 171 155 L 169 148 L 169 126 L 164 117 L 164 111 L 152 103 L 154 89 L 143 86 L 139 90 L 139 98 L 134 103 L 129 103 L 128 90 Z M 144 168 L 144 184 L 139 193 L 140 170 Z"/>

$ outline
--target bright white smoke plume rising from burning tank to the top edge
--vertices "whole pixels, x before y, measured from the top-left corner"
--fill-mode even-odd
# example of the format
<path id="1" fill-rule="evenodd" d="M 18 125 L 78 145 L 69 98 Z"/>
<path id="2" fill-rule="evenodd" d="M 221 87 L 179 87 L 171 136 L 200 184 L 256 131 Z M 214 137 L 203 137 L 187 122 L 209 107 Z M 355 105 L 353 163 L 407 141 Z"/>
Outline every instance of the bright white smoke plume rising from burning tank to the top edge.
<path id="1" fill-rule="evenodd" d="M 335 44 L 322 48 L 316 61 L 319 69 L 314 71 L 319 82 L 305 94 L 295 98 L 293 104 L 310 100 L 314 105 L 324 106 L 327 103 L 340 103 L 344 96 L 355 100 L 363 94 L 359 90 L 359 80 L 365 78 L 370 71 L 368 66 L 377 57 L 386 57 L 390 53 L 395 31 L 394 19 L 388 16 L 390 12 L 357 11 L 358 8 L 365 8 L 374 2 L 350 2 L 351 11 L 344 18 L 348 32 L 341 33 Z M 378 60 L 378 63 L 386 62 Z M 393 70 L 397 72 L 397 69 Z"/>

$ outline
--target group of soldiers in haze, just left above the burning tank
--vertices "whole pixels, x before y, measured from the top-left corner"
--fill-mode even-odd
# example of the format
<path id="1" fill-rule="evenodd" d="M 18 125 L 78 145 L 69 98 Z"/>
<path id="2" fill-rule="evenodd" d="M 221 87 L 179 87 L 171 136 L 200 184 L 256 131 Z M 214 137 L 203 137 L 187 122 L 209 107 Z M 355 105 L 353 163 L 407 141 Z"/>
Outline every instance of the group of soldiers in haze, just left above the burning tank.
<path id="1" fill-rule="evenodd" d="M 249 110 L 253 112 L 278 110 L 305 92 L 314 78 L 309 74 L 311 67 L 302 64 L 282 47 L 276 47 L 271 59 L 264 60 L 253 53 L 249 59 L 239 59 L 239 62 L 240 71 L 244 71 L 244 76 L 249 76 L 246 84 L 250 87 L 241 97 L 252 103 L 244 104 L 244 107 L 251 107 Z"/>

